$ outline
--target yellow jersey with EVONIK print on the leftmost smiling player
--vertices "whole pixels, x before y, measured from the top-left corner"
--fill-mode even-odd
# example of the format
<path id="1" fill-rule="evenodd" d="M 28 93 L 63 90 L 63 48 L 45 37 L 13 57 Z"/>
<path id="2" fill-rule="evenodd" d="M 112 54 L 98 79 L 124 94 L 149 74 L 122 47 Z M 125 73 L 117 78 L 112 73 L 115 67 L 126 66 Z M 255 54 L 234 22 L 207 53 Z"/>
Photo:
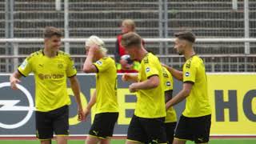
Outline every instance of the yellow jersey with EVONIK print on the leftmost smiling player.
<path id="1" fill-rule="evenodd" d="M 18 71 L 25 77 L 30 72 L 34 73 L 37 111 L 46 112 L 70 105 L 66 77 L 77 74 L 70 54 L 59 50 L 54 58 L 49 58 L 43 50 L 39 50 L 30 54 L 18 67 Z"/>

